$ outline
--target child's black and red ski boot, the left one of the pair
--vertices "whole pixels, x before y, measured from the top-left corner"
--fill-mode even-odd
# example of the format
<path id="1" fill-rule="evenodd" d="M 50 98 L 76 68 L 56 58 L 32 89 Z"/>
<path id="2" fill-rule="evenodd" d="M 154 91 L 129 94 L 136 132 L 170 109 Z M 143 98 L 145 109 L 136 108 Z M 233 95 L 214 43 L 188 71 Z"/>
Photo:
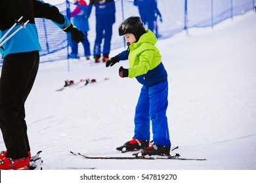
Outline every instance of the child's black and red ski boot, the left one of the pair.
<path id="1" fill-rule="evenodd" d="M 119 146 L 116 148 L 116 150 L 119 150 L 121 152 L 129 152 L 129 151 L 135 151 L 147 148 L 149 144 L 149 140 L 139 140 L 133 138 L 131 141 L 125 142 L 123 146 Z"/>

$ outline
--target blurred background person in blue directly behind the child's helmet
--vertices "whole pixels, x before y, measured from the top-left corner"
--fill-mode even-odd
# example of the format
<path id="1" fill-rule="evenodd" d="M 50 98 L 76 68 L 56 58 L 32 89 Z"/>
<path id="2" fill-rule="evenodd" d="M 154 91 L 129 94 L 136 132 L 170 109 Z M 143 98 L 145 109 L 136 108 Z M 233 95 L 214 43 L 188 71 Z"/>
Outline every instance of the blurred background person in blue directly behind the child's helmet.
<path id="1" fill-rule="evenodd" d="M 154 32 L 158 37 L 158 16 L 160 22 L 163 22 L 161 18 L 160 10 L 158 9 L 157 0 L 135 0 L 134 5 L 139 8 L 139 14 L 142 22 L 148 26 L 148 29 Z"/>

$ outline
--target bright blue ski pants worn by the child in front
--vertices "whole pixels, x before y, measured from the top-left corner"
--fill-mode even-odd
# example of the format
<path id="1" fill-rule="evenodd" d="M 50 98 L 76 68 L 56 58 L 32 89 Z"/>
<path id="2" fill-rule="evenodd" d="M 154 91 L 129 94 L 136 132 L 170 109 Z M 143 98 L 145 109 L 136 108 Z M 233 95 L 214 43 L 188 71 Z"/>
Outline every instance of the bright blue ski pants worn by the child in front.
<path id="1" fill-rule="evenodd" d="M 135 139 L 150 139 L 151 120 L 154 144 L 171 145 L 166 116 L 167 97 L 167 81 L 154 86 L 142 86 L 135 111 Z"/>

